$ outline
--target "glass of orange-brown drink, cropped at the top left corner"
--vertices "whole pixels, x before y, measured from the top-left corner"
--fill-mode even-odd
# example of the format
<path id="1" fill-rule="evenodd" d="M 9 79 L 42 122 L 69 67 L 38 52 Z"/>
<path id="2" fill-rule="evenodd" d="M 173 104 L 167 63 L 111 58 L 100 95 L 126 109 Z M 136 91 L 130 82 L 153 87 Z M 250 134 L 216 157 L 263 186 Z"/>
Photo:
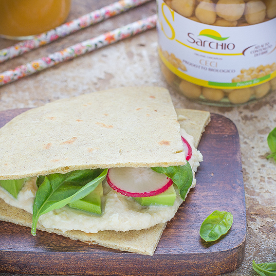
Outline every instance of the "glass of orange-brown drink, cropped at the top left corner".
<path id="1" fill-rule="evenodd" d="M 71 0 L 0 0 L 0 37 L 27 39 L 68 17 Z"/>

